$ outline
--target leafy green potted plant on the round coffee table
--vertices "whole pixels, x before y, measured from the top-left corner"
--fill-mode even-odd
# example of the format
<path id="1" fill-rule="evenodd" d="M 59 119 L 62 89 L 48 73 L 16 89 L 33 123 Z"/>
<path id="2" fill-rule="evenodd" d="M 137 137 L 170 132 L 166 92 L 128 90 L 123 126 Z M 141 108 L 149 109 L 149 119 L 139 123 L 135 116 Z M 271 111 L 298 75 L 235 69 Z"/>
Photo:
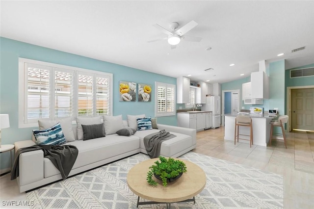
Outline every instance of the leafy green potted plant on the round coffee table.
<path id="1" fill-rule="evenodd" d="M 150 166 L 150 170 L 147 172 L 146 180 L 151 185 L 157 185 L 153 176 L 161 180 L 163 186 L 167 186 L 168 182 L 177 180 L 184 172 L 186 172 L 186 165 L 181 160 L 162 156 L 159 156 L 159 160 L 155 161 L 155 164 Z"/>

